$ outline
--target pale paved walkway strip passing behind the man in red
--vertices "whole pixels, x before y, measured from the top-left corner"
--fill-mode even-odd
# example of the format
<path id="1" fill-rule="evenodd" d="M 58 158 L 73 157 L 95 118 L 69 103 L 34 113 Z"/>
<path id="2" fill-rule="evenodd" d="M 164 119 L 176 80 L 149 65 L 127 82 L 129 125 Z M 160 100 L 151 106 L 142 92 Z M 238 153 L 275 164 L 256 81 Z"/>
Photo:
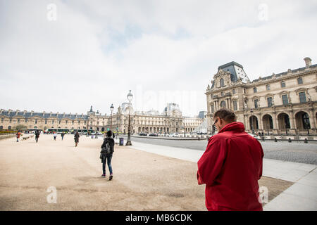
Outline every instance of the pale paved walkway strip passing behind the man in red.
<path id="1" fill-rule="evenodd" d="M 130 148 L 190 162 L 197 162 L 204 153 L 201 150 L 156 146 L 137 141 L 132 144 Z M 263 176 L 294 183 L 266 204 L 264 210 L 317 210 L 316 167 L 298 162 L 263 159 Z"/>

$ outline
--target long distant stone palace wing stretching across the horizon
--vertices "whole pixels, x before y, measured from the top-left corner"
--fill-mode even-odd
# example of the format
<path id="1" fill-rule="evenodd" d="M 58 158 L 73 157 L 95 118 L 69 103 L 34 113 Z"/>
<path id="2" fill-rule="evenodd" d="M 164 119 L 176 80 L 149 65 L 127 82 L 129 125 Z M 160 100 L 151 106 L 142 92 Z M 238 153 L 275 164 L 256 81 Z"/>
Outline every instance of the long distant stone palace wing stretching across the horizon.
<path id="1" fill-rule="evenodd" d="M 23 124 L 27 129 L 92 129 L 107 131 L 112 129 L 120 133 L 128 133 L 129 113 L 133 133 L 183 133 L 192 132 L 205 120 L 204 117 L 182 117 L 180 108 L 175 103 L 168 103 L 163 113 L 156 110 L 139 112 L 133 110 L 129 103 L 123 103 L 112 115 L 101 115 L 92 107 L 84 114 L 35 113 L 26 110 L 0 110 L 0 130 L 15 129 Z"/>

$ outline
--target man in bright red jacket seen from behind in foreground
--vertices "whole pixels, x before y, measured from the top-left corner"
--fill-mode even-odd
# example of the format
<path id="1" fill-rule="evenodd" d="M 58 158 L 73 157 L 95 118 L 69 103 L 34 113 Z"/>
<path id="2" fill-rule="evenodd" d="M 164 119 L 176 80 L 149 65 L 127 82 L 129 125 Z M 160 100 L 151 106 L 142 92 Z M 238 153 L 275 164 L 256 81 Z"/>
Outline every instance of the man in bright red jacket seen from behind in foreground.
<path id="1" fill-rule="evenodd" d="M 244 131 L 231 110 L 213 115 L 218 134 L 209 139 L 197 162 L 198 184 L 206 184 L 206 207 L 213 210 L 263 210 L 258 180 L 262 176 L 261 143 Z"/>

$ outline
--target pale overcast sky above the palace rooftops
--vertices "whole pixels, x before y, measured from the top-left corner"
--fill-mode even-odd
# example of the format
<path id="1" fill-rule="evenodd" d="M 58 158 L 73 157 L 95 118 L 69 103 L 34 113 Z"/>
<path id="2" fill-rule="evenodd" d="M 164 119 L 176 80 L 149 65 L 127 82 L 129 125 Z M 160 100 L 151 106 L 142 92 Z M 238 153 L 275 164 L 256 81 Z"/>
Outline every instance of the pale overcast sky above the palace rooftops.
<path id="1" fill-rule="evenodd" d="M 219 65 L 253 80 L 316 64 L 316 11 L 316 0 L 0 0 L 0 108 L 109 114 L 132 90 L 137 110 L 174 102 L 198 115 Z"/>

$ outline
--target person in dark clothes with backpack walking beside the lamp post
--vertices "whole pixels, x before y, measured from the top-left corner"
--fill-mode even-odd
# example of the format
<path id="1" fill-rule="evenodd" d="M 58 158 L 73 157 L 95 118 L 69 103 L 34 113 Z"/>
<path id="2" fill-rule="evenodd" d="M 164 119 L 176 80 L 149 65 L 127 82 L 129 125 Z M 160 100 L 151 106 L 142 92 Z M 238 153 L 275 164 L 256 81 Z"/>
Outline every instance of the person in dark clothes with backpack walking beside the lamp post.
<path id="1" fill-rule="evenodd" d="M 101 177 L 106 177 L 106 163 L 109 169 L 109 181 L 113 178 L 113 171 L 111 167 L 112 155 L 114 152 L 114 140 L 112 138 L 112 131 L 107 132 L 106 139 L 104 139 L 104 143 L 101 145 L 100 159 L 102 162 L 102 172 Z"/>

